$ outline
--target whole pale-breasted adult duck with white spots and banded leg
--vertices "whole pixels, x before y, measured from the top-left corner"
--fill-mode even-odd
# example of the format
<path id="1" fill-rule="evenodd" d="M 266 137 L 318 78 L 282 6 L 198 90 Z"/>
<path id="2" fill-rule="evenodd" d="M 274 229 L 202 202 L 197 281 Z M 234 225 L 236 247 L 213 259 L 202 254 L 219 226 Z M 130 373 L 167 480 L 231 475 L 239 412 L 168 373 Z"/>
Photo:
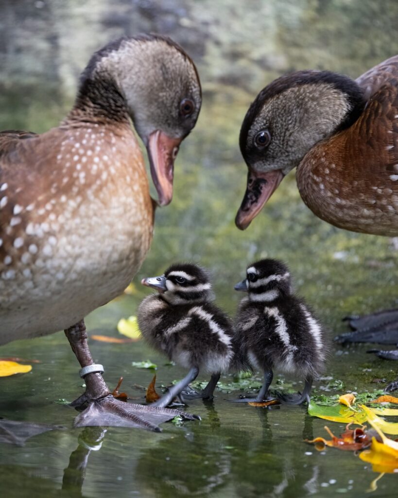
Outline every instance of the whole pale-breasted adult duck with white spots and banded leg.
<path id="1" fill-rule="evenodd" d="M 173 163 L 201 105 L 197 70 L 160 35 L 96 52 L 75 105 L 41 134 L 0 136 L 0 344 L 65 330 L 87 389 L 78 425 L 158 430 L 176 410 L 115 400 L 91 357 L 84 317 L 120 294 L 150 247 L 154 206 L 173 193 Z"/>

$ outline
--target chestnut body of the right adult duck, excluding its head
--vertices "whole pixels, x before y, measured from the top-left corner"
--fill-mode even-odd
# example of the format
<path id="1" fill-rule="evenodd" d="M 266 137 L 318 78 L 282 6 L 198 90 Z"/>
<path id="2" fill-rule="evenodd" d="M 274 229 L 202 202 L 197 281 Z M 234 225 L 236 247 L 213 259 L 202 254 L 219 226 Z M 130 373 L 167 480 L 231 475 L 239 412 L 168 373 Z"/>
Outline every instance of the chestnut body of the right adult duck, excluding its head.
<path id="1" fill-rule="evenodd" d="M 299 190 L 308 207 L 332 225 L 397 236 L 398 56 L 358 82 L 370 95 L 364 112 L 304 157 L 297 172 Z"/>

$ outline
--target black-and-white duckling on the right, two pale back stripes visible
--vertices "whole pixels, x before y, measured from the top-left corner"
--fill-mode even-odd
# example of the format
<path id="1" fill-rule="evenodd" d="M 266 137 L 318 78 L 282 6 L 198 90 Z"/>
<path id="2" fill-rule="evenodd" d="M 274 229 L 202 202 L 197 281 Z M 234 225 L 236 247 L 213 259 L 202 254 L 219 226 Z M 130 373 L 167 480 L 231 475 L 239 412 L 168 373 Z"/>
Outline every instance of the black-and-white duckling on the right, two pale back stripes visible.
<path id="1" fill-rule="evenodd" d="M 324 334 L 308 306 L 293 294 L 288 267 L 276 259 L 252 263 L 235 290 L 248 293 L 239 304 L 235 320 L 236 348 L 250 369 L 264 373 L 258 395 L 238 401 L 266 400 L 274 368 L 305 379 L 298 399 L 281 396 L 282 401 L 309 401 L 313 377 L 325 361 Z"/>

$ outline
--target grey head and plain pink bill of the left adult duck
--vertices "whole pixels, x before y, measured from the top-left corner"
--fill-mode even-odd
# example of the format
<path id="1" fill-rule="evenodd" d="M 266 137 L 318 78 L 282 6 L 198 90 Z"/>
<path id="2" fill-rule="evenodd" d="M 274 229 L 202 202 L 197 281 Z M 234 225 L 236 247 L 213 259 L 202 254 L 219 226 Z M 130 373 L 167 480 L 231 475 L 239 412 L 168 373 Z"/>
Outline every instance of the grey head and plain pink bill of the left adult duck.
<path id="1" fill-rule="evenodd" d="M 87 98 L 90 106 L 114 111 L 115 117 L 125 108 L 147 148 L 158 203 L 169 204 L 174 160 L 201 105 L 199 76 L 191 58 L 165 36 L 121 38 L 96 52 L 83 72 L 77 102 Z"/>

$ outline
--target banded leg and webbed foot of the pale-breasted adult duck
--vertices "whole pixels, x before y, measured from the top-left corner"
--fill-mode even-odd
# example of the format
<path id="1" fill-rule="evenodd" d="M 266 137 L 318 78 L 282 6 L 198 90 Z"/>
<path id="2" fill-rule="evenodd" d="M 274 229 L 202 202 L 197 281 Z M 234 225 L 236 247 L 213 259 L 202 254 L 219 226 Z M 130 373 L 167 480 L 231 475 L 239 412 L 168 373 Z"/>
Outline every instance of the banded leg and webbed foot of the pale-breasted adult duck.
<path id="1" fill-rule="evenodd" d="M 96 366 L 93 362 L 87 343 L 87 332 L 84 320 L 65 330 L 72 350 L 78 359 L 82 370 Z M 90 369 L 88 369 L 90 370 Z M 82 371 L 81 371 L 82 372 Z M 86 392 L 73 402 L 74 406 L 88 404 L 87 408 L 75 419 L 74 425 L 81 426 L 116 426 L 140 427 L 160 432 L 158 424 L 166 422 L 177 415 L 193 420 L 197 415 L 171 410 L 161 406 L 146 406 L 126 403 L 115 399 L 109 392 L 102 375 L 98 372 L 84 374 Z"/>

